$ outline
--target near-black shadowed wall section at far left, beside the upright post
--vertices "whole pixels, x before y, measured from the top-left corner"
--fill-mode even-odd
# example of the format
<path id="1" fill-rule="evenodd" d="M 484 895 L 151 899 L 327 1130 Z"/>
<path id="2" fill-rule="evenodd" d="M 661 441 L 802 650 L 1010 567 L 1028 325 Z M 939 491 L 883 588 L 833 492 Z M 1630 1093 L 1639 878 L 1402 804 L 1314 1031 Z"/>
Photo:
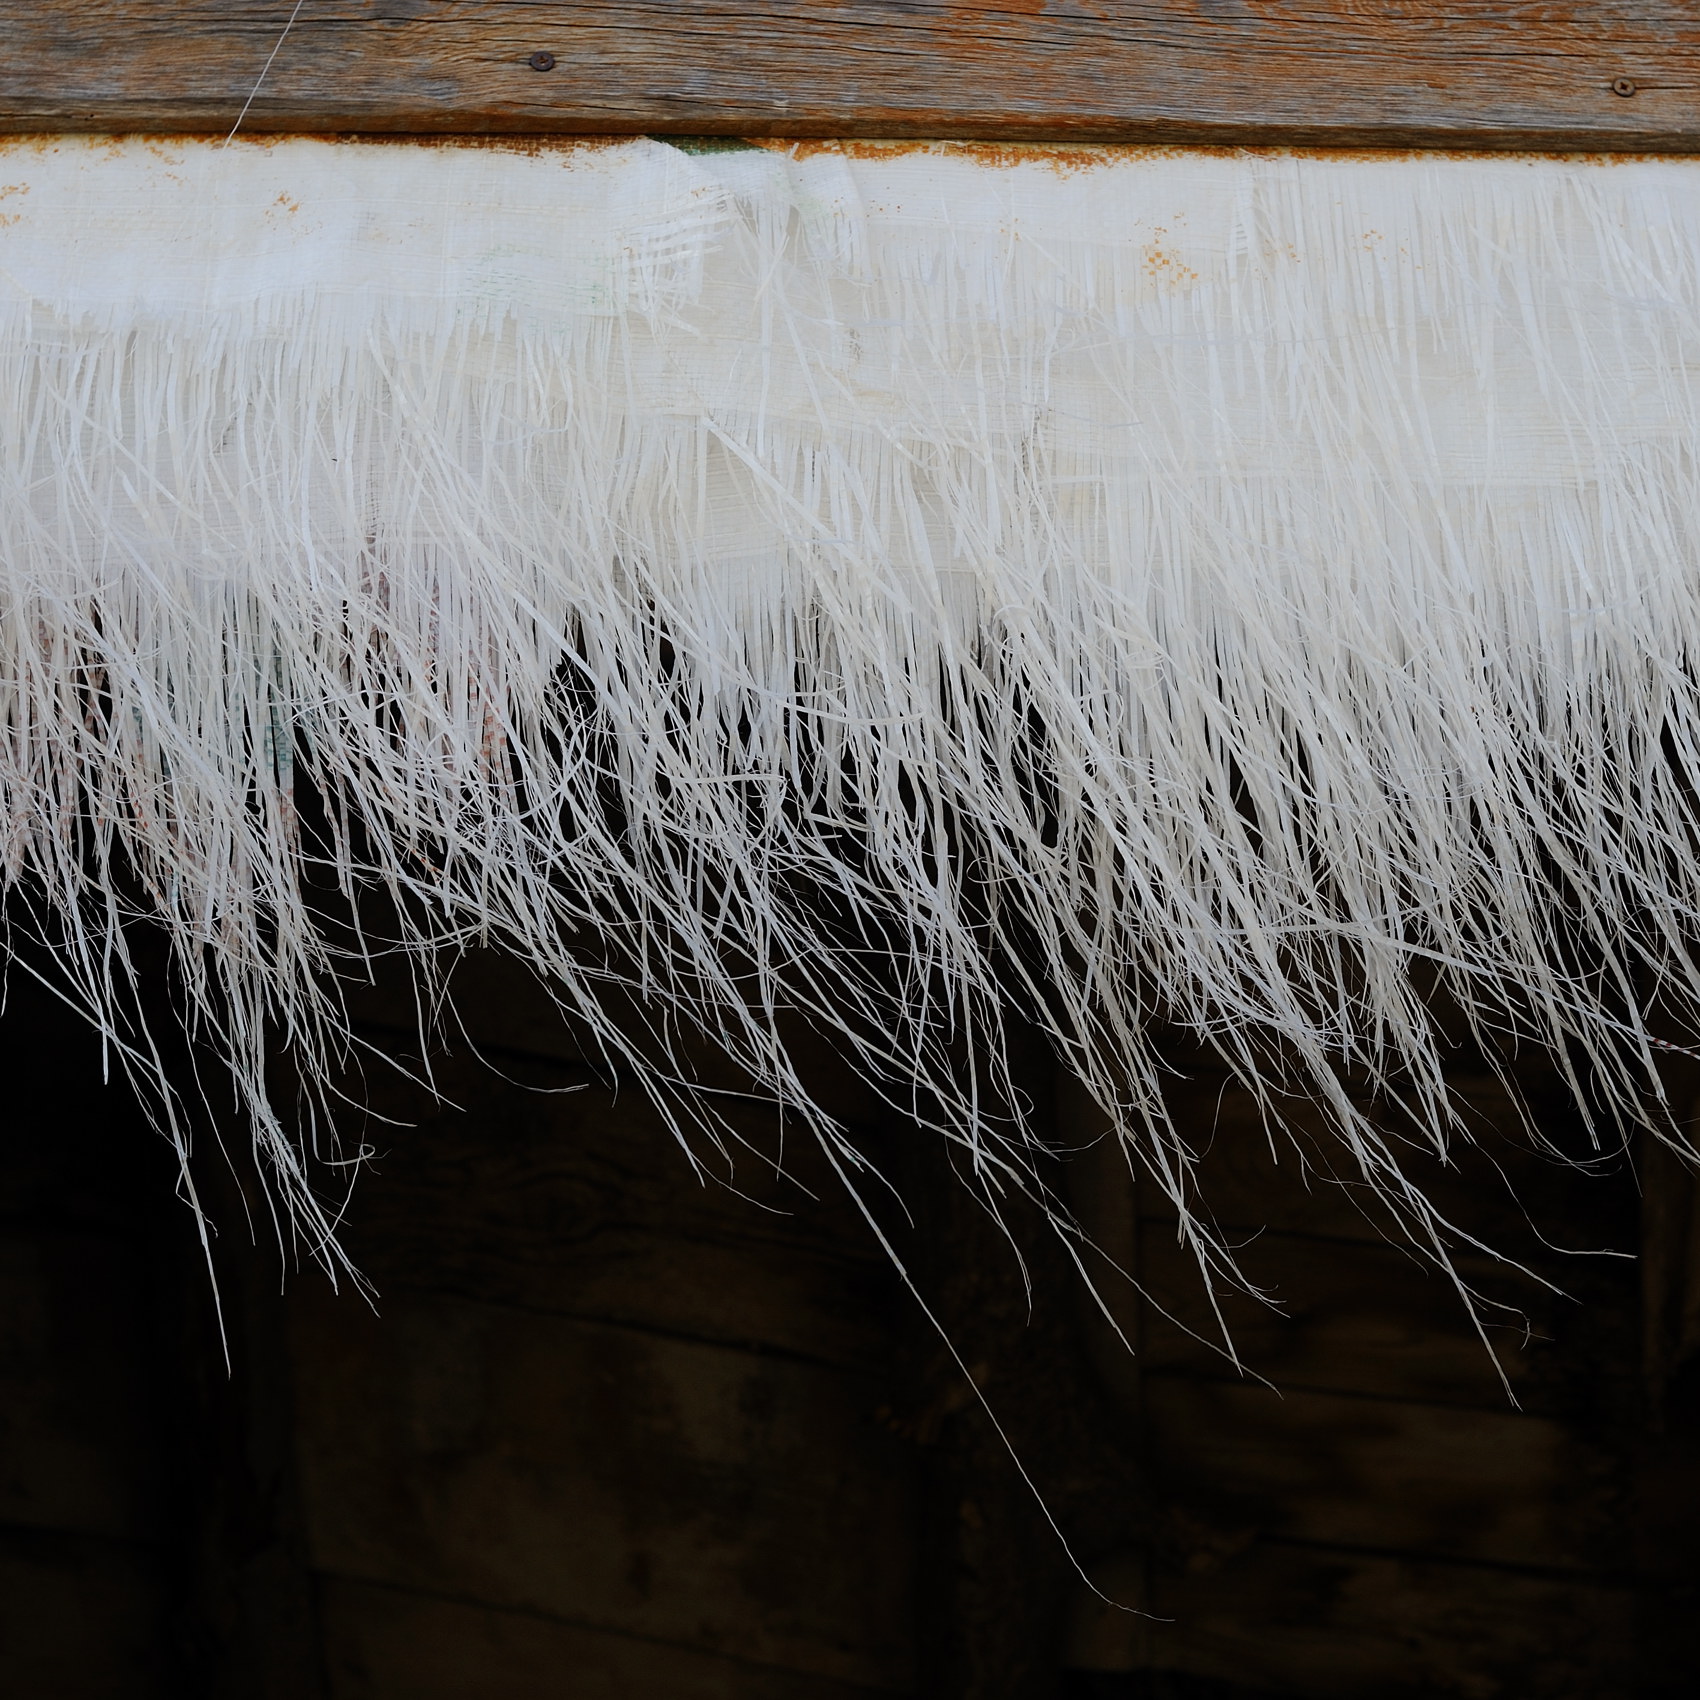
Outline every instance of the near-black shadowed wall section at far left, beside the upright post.
<path id="1" fill-rule="evenodd" d="M 172 1168 L 99 1049 L 12 988 L 0 1022 L 0 1688 L 167 1697 L 184 1674 L 192 1391 Z M 192 1304 L 190 1304 L 192 1307 Z"/>

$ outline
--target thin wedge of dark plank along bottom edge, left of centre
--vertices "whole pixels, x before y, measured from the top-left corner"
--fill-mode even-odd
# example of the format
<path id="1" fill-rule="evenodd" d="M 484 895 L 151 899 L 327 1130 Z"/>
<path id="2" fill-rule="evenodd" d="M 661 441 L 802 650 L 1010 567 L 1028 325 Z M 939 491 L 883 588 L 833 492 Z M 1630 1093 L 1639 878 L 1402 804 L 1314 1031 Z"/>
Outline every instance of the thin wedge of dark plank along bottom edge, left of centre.
<path id="1" fill-rule="evenodd" d="M 332 1700 L 857 1700 L 879 1690 L 522 1612 L 326 1578 Z"/>

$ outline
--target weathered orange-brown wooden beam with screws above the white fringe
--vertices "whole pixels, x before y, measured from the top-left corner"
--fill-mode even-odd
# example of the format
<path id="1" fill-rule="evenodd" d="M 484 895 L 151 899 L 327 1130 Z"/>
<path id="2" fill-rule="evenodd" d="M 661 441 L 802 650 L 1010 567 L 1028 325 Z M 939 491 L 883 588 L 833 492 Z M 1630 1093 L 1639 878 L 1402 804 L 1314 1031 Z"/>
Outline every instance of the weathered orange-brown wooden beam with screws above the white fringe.
<path id="1" fill-rule="evenodd" d="M 289 10 L 0 0 L 0 128 L 228 131 Z M 532 54 L 552 68 L 532 70 Z M 243 128 L 1688 150 L 1700 12 L 1688 0 L 304 0 Z"/>

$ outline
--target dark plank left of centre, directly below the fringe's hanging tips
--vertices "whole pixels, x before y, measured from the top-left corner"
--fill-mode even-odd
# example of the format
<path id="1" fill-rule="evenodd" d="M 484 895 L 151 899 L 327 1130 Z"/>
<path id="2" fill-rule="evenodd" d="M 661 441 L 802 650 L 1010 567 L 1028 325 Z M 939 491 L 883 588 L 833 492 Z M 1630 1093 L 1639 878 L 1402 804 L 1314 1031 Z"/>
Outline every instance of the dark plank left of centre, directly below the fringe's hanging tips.
<path id="1" fill-rule="evenodd" d="M 639 1090 L 581 1071 L 496 1073 L 464 1047 L 435 1062 L 444 1098 L 371 1069 L 350 1148 L 374 1148 L 343 1243 L 388 1299 L 406 1287 L 622 1323 L 845 1367 L 889 1360 L 903 1292 L 802 1137 L 728 1102 L 745 1139 L 692 1171 Z M 784 1173 L 774 1156 L 784 1151 Z M 763 1161 L 763 1153 L 767 1161 Z"/>

